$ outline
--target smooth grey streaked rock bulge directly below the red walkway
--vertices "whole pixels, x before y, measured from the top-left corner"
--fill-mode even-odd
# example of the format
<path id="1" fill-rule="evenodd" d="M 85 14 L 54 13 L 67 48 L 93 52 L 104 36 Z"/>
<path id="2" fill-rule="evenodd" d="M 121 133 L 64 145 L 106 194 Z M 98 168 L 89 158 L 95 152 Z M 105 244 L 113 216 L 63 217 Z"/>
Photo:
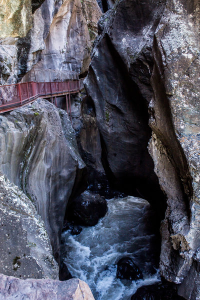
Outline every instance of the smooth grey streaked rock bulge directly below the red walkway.
<path id="1" fill-rule="evenodd" d="M 0 169 L 35 203 L 58 259 L 68 198 L 86 179 L 65 111 L 38 99 L 1 115 Z"/>

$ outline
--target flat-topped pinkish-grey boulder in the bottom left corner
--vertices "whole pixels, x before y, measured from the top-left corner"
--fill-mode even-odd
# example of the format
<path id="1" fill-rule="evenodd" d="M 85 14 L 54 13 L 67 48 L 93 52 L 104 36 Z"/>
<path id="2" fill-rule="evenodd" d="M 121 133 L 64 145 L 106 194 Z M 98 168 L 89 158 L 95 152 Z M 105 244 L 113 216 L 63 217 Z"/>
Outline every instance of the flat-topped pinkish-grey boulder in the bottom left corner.
<path id="1" fill-rule="evenodd" d="M 0 274 L 0 299 L 94 300 L 89 286 L 80 279 L 67 281 L 25 279 Z"/>

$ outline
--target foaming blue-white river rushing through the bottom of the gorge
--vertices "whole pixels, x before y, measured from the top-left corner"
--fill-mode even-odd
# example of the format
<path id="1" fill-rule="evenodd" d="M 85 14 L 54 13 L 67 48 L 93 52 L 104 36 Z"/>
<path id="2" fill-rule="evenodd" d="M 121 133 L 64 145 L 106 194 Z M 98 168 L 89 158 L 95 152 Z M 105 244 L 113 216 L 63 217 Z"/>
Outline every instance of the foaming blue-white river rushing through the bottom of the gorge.
<path id="1" fill-rule="evenodd" d="M 108 200 L 108 211 L 79 235 L 62 233 L 63 256 L 73 277 L 88 283 L 96 300 L 126 300 L 141 285 L 157 282 L 159 241 L 155 216 L 141 198 Z M 116 263 L 129 256 L 143 273 L 138 281 L 116 278 Z"/>

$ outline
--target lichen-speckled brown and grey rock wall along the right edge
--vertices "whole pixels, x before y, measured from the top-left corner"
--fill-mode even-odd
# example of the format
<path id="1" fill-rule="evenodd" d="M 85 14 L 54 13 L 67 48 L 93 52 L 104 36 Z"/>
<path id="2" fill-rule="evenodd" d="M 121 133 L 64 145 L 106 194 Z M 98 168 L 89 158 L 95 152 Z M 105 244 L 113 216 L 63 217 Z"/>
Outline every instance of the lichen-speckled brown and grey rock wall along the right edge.
<path id="1" fill-rule="evenodd" d="M 161 274 L 200 297 L 199 278 L 199 2 L 167 1 L 153 43 L 149 150 L 165 191 Z"/>

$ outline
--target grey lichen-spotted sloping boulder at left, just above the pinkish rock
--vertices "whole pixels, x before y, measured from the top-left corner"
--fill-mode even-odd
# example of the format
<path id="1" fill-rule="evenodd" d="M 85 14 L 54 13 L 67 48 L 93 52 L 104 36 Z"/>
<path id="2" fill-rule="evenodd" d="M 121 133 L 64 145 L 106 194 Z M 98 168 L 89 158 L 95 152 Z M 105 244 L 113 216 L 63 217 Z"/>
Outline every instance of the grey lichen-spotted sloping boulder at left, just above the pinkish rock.
<path id="1" fill-rule="evenodd" d="M 31 200 L 1 172 L 0 257 L 0 273 L 5 275 L 58 278 L 58 266 L 41 217 Z"/>

